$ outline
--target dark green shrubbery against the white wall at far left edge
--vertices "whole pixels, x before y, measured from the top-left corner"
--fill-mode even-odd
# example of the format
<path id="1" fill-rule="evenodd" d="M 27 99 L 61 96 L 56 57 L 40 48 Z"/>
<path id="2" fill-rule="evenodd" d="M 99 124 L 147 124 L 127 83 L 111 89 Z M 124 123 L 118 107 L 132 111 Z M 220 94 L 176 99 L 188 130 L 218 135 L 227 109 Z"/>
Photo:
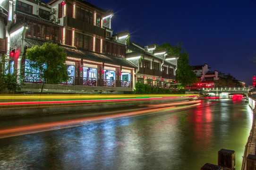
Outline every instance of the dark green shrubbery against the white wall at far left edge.
<path id="1" fill-rule="evenodd" d="M 9 67 L 9 60 L 3 55 L 0 58 L 0 92 L 7 89 L 15 93 L 24 86 L 24 76 L 17 69 L 9 73 Z"/>

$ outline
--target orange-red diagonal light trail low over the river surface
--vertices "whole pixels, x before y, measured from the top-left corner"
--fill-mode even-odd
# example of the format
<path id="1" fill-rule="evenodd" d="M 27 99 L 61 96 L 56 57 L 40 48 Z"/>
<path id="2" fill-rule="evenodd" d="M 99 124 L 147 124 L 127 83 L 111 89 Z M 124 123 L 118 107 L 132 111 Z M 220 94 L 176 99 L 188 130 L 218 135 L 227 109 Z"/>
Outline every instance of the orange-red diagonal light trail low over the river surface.
<path id="1" fill-rule="evenodd" d="M 110 111 L 110 112 L 104 112 L 104 115 L 100 115 L 100 116 L 92 116 L 92 117 L 69 119 L 69 120 L 59 120 L 59 121 L 52 121 L 52 122 L 46 122 L 46 123 L 35 123 L 31 125 L 23 125 L 18 127 L 15 126 L 15 127 L 1 128 L 0 138 L 37 133 L 37 132 L 55 130 L 60 128 L 83 126 L 86 124 L 98 123 L 103 121 L 124 119 L 128 117 L 140 116 L 145 114 L 153 114 L 153 113 L 162 112 L 162 111 L 171 110 L 171 109 L 176 110 L 176 109 L 188 107 L 188 106 L 177 107 L 178 105 L 189 104 L 189 106 L 191 107 L 191 106 L 199 105 L 200 102 L 201 101 L 198 100 L 198 101 L 173 102 L 168 104 L 152 104 L 152 105 L 145 105 L 148 108 L 130 109 L 130 110 L 126 110 L 126 112 L 121 112 L 121 113 L 120 111 Z"/>

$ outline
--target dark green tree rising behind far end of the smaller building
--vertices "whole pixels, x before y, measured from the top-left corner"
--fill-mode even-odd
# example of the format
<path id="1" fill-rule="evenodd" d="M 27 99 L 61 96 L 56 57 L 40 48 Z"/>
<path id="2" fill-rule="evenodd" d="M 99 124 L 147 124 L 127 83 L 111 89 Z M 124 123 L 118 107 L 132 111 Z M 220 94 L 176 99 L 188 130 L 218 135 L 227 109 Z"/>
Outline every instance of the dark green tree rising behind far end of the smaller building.
<path id="1" fill-rule="evenodd" d="M 168 55 L 179 56 L 177 62 L 176 81 L 182 86 L 187 86 L 197 81 L 193 68 L 189 65 L 188 53 L 182 48 L 182 43 L 178 42 L 176 46 L 171 46 L 170 42 L 158 46 L 157 50 L 168 50 Z"/>

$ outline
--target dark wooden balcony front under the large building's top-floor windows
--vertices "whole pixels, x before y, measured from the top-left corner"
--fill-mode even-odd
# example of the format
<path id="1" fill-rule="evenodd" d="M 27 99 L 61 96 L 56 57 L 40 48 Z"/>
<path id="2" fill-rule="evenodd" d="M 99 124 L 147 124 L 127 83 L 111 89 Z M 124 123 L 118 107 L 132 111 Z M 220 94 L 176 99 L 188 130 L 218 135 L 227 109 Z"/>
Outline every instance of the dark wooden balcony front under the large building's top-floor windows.
<path id="1" fill-rule="evenodd" d="M 84 21 L 81 21 L 79 19 L 73 18 L 73 17 L 69 17 L 66 16 L 63 18 L 63 26 L 68 26 L 68 27 L 72 27 L 72 28 L 76 28 L 80 31 L 83 31 L 85 33 L 89 33 L 89 34 L 95 34 L 101 37 L 105 37 L 105 29 L 100 28 L 98 26 L 94 26 L 92 24 L 88 24 Z"/>

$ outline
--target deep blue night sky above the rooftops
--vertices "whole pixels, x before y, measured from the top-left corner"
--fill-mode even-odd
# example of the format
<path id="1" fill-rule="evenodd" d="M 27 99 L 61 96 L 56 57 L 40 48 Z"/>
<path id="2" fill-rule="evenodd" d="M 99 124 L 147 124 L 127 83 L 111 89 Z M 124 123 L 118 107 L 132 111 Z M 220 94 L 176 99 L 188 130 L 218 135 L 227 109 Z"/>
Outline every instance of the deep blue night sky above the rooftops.
<path id="1" fill-rule="evenodd" d="M 182 42 L 191 66 L 206 63 L 252 85 L 256 67 L 248 58 L 256 53 L 256 0 L 86 1 L 113 10 L 114 34 L 128 30 L 130 42 L 143 46 Z"/>

